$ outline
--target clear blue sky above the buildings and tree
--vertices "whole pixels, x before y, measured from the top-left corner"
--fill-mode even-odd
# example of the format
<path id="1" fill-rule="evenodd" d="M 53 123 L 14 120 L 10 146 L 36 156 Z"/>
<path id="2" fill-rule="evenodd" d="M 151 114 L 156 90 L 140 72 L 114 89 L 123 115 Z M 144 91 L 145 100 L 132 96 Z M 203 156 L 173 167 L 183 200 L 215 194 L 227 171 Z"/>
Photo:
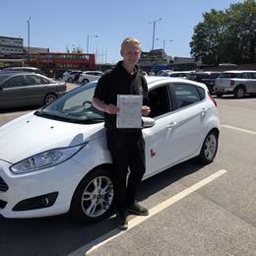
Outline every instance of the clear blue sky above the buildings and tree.
<path id="1" fill-rule="evenodd" d="M 211 9 L 227 9 L 243 0 L 12 0 L 2 1 L 0 35 L 23 37 L 28 46 L 28 23 L 31 16 L 32 47 L 65 52 L 66 47 L 97 53 L 97 61 L 115 63 L 120 56 L 120 44 L 128 36 L 138 38 L 142 50 L 153 47 L 155 38 L 164 39 L 168 55 L 190 57 L 189 42 L 194 27 L 203 22 L 203 13 Z M 173 40 L 171 42 L 167 40 Z M 154 48 L 163 41 L 155 40 Z"/>

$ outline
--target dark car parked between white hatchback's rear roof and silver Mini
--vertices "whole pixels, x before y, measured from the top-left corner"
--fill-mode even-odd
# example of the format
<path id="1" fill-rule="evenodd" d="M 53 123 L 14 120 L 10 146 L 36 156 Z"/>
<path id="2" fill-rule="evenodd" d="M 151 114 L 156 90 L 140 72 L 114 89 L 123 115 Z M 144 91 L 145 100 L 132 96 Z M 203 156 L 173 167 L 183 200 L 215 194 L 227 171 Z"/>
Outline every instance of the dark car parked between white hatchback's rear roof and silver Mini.
<path id="1" fill-rule="evenodd" d="M 222 72 L 218 71 L 200 71 L 191 73 L 191 79 L 196 82 L 204 83 L 211 94 L 214 94 L 214 85 L 216 79 Z"/>

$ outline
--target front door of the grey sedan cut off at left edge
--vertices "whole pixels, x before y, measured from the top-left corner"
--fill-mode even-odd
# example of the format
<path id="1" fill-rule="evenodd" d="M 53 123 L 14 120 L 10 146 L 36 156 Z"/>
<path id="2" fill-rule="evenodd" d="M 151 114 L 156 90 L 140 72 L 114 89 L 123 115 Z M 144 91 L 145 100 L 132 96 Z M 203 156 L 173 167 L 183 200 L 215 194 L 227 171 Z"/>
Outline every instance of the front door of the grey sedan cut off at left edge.
<path id="1" fill-rule="evenodd" d="M 26 105 L 24 91 L 24 76 L 12 76 L 2 84 L 0 90 L 0 107 L 14 107 Z"/>

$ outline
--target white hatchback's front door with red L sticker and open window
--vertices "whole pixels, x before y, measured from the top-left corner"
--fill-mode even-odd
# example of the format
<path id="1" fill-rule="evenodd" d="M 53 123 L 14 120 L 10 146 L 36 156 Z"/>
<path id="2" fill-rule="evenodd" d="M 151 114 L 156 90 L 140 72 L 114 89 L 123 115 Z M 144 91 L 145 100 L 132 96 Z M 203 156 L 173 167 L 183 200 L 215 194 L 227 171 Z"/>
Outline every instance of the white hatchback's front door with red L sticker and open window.
<path id="1" fill-rule="evenodd" d="M 156 124 L 143 130 L 146 142 L 146 174 L 151 176 L 179 160 L 180 134 L 178 111 L 172 111 L 168 85 L 160 85 L 149 93 L 150 117 Z"/>

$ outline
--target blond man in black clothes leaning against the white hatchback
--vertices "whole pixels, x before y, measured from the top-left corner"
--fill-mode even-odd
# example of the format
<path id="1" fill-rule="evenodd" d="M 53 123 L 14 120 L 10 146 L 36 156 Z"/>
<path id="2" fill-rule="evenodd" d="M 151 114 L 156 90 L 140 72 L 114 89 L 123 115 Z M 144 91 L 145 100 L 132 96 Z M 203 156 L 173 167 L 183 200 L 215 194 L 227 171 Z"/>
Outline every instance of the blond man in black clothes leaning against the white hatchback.
<path id="1" fill-rule="evenodd" d="M 116 221 L 120 228 L 127 228 L 127 210 L 137 215 L 149 215 L 148 209 L 135 200 L 145 173 L 145 142 L 141 129 L 116 127 L 117 95 L 142 95 L 143 115 L 150 113 L 150 107 L 146 105 L 147 82 L 137 66 L 141 56 L 141 42 L 133 37 L 124 39 L 120 53 L 123 61 L 119 61 L 112 71 L 98 80 L 93 105 L 104 111 L 107 147 L 115 166 Z M 128 166 L 130 174 L 126 187 Z"/>

